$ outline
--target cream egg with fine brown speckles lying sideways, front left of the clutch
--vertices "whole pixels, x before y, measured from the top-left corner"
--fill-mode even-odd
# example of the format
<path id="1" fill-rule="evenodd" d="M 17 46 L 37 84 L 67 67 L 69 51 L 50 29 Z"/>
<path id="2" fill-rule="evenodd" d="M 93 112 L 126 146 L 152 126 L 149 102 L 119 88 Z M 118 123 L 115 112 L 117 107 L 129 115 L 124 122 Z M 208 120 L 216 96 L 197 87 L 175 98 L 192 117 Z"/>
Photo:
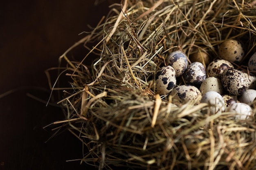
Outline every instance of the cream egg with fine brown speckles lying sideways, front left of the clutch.
<path id="1" fill-rule="evenodd" d="M 186 104 L 187 102 L 199 104 L 202 98 L 199 89 L 192 85 L 178 86 L 171 91 L 170 95 L 173 96 L 174 104 Z"/>

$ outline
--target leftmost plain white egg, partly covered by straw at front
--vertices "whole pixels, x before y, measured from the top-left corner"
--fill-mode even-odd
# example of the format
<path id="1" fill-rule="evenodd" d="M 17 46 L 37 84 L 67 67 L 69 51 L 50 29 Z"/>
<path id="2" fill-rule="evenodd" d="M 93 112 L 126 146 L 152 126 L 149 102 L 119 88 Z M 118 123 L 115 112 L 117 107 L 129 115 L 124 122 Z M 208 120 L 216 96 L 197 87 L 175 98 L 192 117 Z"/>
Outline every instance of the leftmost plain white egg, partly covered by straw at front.
<path id="1" fill-rule="evenodd" d="M 209 104 L 210 114 L 218 114 L 225 111 L 225 103 L 224 99 L 220 95 L 220 93 L 216 91 L 208 91 L 202 95 L 202 99 L 200 103 Z M 204 110 L 206 112 L 207 110 Z"/>

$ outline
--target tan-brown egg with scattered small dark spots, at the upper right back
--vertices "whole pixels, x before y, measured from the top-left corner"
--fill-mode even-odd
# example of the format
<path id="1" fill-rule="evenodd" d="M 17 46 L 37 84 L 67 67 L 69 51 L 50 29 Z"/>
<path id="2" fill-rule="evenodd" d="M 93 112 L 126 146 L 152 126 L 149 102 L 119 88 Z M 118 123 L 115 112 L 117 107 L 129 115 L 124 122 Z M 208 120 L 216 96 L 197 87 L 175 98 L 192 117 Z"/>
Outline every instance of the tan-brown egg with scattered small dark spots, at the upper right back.
<path id="1" fill-rule="evenodd" d="M 231 39 L 220 44 L 219 54 L 223 60 L 238 64 L 243 59 L 245 51 L 239 41 Z"/>

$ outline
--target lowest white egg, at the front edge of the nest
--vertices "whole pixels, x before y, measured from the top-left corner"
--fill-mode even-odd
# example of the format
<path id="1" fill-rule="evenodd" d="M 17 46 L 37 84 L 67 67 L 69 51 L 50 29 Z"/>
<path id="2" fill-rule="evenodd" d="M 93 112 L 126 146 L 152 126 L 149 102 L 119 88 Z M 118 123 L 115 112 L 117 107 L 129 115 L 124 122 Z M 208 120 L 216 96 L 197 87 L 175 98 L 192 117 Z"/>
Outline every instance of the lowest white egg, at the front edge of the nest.
<path id="1" fill-rule="evenodd" d="M 234 103 L 227 108 L 228 112 L 235 113 L 235 119 L 245 120 L 252 115 L 252 108 L 245 103 Z"/>

